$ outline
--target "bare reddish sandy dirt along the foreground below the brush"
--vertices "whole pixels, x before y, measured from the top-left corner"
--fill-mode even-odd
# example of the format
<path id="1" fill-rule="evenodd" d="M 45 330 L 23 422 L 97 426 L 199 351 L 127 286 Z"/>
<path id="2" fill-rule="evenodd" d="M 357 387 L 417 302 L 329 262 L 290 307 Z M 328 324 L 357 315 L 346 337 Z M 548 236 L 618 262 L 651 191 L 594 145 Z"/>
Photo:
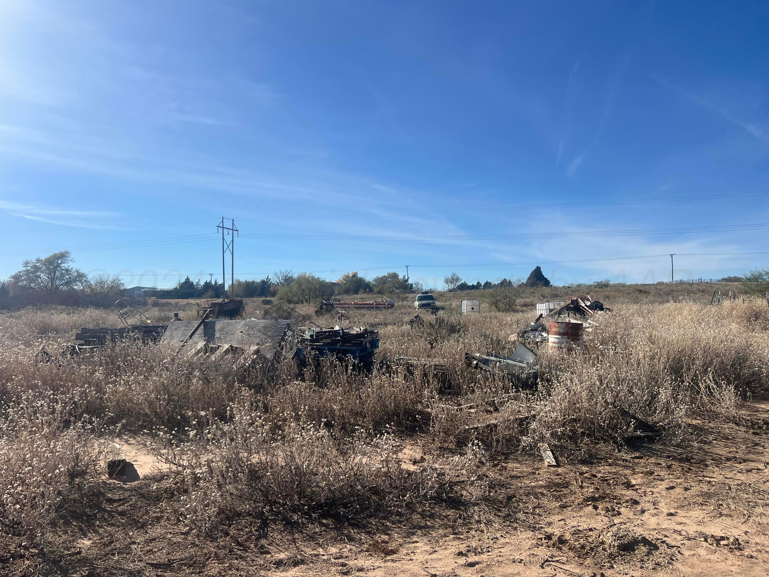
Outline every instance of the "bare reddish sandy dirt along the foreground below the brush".
<path id="1" fill-rule="evenodd" d="M 18 542 L 0 569 L 89 577 L 769 575 L 769 400 L 754 399 L 740 427 L 691 426 L 694 442 L 685 447 L 596 445 L 557 455 L 558 467 L 509 459 L 495 471 L 509 479 L 500 506 L 473 515 L 447 508 L 363 525 L 234 525 L 216 539 L 185 527 L 167 466 L 140 437 L 122 437 L 114 442 L 131 475 L 69 504 L 60 539 L 36 554 L 45 558 L 39 570 Z"/>

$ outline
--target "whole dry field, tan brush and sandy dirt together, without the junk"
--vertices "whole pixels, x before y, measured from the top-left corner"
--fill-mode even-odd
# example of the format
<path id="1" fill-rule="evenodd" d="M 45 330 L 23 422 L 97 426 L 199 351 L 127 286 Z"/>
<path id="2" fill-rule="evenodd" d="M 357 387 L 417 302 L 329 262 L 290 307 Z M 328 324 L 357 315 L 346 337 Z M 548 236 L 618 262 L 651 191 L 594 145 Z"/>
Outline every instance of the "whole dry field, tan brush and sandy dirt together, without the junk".
<path id="1" fill-rule="evenodd" d="M 2 313 L 0 574 L 767 575 L 769 311 L 712 290 L 599 289 L 614 313 L 581 352 L 541 349 L 536 390 L 464 353 L 511 352 L 556 288 L 464 317 L 483 292 L 438 295 L 419 330 L 413 297 L 351 313 L 379 331 L 370 375 L 131 343 L 36 362 L 114 311 Z M 663 435 L 630 442 L 628 414 Z M 108 479 L 115 445 L 131 467 Z"/>

